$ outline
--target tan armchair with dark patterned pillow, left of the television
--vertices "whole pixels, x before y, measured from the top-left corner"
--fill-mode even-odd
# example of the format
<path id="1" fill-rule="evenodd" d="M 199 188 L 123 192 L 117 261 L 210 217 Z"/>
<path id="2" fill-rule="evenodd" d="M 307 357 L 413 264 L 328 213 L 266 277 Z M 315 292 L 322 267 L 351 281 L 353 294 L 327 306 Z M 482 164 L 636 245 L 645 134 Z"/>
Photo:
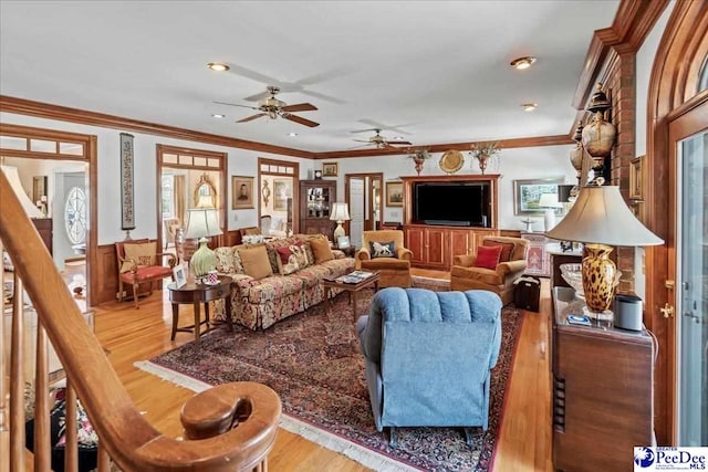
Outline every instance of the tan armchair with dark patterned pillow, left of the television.
<path id="1" fill-rule="evenodd" d="M 394 242 L 395 254 L 388 258 L 372 258 L 372 243 Z M 409 287 L 410 259 L 413 252 L 403 245 L 403 231 L 382 230 L 364 231 L 362 235 L 362 249 L 356 253 L 356 262 L 365 271 L 378 271 L 379 287 L 400 286 Z"/>

